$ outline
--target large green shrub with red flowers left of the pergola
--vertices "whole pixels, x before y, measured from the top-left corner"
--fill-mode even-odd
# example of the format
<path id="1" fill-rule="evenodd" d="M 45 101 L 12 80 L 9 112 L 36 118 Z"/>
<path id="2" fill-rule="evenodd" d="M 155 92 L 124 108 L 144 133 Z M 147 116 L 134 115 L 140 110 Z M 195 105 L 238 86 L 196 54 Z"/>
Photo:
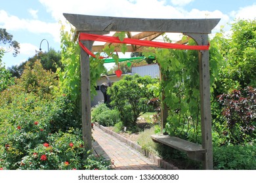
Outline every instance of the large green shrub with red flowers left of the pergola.
<path id="1" fill-rule="evenodd" d="M 0 169 L 109 169 L 110 162 L 83 148 L 81 128 L 70 128 L 79 123 L 72 120 L 73 109 L 66 95 L 47 101 L 33 93 L 0 105 Z"/>

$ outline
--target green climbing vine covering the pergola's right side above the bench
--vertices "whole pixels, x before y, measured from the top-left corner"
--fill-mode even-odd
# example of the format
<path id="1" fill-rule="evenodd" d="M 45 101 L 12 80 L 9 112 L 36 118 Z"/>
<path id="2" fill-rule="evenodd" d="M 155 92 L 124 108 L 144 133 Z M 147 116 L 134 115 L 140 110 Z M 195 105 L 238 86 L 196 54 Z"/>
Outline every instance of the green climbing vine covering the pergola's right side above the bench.
<path id="1" fill-rule="evenodd" d="M 165 41 L 168 41 L 165 39 Z M 190 45 L 196 44 L 192 39 Z M 165 93 L 163 102 L 168 107 L 164 131 L 182 139 L 200 142 L 200 84 L 198 52 L 150 48 L 145 56 L 154 56 L 160 64 L 163 80 L 160 90 Z M 211 67 L 211 91 L 217 78 L 219 52 L 209 50 Z"/>

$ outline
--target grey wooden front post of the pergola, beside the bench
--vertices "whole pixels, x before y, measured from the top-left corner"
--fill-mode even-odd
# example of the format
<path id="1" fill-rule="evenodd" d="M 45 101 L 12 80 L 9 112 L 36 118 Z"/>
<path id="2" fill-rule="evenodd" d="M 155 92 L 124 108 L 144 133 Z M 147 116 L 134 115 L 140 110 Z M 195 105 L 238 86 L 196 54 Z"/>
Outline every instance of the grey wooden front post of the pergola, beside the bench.
<path id="1" fill-rule="evenodd" d="M 208 44 L 208 35 L 200 33 L 186 34 L 194 39 L 198 45 Z M 209 50 L 200 50 L 199 75 L 200 75 L 200 103 L 201 103 L 201 130 L 202 147 L 207 150 L 203 159 L 203 169 L 213 169 L 213 143 L 211 137 L 211 93 L 209 72 Z"/>

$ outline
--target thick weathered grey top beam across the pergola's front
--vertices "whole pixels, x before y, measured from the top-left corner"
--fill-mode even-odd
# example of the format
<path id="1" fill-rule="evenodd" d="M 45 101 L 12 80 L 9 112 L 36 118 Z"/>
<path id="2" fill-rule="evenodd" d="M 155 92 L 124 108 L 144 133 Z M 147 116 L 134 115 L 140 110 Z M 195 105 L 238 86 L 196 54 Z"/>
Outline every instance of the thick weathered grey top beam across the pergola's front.
<path id="1" fill-rule="evenodd" d="M 220 19 L 121 18 L 63 14 L 77 31 L 135 31 L 167 33 L 211 33 Z"/>

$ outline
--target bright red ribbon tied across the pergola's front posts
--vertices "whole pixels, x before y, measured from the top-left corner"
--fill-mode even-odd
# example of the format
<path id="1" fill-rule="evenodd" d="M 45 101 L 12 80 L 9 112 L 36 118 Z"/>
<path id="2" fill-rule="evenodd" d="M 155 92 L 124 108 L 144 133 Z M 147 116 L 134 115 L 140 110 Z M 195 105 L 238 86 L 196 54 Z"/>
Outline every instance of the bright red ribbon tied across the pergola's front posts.
<path id="1" fill-rule="evenodd" d="M 81 46 L 81 48 L 83 48 L 83 50 L 85 50 L 85 52 L 87 52 L 87 54 L 93 57 L 95 57 L 95 55 L 81 43 L 81 41 L 86 41 L 86 40 L 123 43 L 123 44 L 135 44 L 139 46 L 151 46 L 151 47 L 179 49 L 179 50 L 209 50 L 209 44 L 208 45 L 186 45 L 186 44 L 175 44 L 175 43 L 167 43 L 167 42 L 146 41 L 146 40 L 131 39 L 131 38 L 125 38 L 123 39 L 123 41 L 120 41 L 119 37 L 80 33 L 79 45 Z M 100 59 L 104 59 L 104 57 L 100 57 Z"/>

